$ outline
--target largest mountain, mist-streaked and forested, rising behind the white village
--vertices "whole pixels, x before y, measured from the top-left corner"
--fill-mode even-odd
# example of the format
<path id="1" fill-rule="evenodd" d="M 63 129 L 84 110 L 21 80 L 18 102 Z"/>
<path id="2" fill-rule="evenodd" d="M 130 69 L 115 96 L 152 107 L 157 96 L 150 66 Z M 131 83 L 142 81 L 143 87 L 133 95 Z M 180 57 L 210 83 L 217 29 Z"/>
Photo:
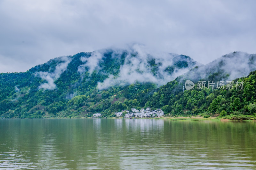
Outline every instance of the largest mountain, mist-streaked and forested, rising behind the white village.
<path id="1" fill-rule="evenodd" d="M 189 56 L 151 53 L 138 44 L 54 58 L 26 72 L 0 74 L 0 115 L 109 115 L 125 108 L 116 103 L 138 94 L 143 100 L 134 107 L 142 107 L 144 96 L 196 65 Z"/>

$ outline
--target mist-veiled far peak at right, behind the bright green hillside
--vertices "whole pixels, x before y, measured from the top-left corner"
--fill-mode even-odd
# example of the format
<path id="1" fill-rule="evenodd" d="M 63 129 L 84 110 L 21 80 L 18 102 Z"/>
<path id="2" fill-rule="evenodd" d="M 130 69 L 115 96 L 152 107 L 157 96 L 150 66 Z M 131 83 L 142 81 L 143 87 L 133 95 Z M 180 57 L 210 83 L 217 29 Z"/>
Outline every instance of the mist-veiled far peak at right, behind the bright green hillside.
<path id="1" fill-rule="evenodd" d="M 180 80 L 227 81 L 247 76 L 256 70 L 256 54 L 233 52 L 185 73 Z"/>

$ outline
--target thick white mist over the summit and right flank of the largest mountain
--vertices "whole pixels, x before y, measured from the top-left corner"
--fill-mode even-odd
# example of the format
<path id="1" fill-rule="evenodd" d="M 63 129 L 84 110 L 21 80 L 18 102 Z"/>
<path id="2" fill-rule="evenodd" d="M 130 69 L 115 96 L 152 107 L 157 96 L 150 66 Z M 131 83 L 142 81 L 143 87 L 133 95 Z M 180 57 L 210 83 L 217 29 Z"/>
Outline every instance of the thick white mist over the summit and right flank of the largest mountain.
<path id="1" fill-rule="evenodd" d="M 195 67 L 196 64 L 199 65 L 199 63 L 196 63 L 191 58 L 173 53 L 150 50 L 141 44 L 127 45 L 125 48 L 112 47 L 111 50 L 113 50 L 112 58 L 117 57 L 118 60 L 121 60 L 121 55 L 124 52 L 126 53 L 126 57 L 124 63 L 120 63 L 117 76 L 109 74 L 108 78 L 103 82 L 98 82 L 98 88 L 100 90 L 113 85 L 129 85 L 135 82 L 151 82 L 157 85 L 164 85 Z M 99 63 L 103 62 L 106 51 L 107 49 L 98 50 L 92 52 L 89 57 L 81 57 L 81 61 L 85 63 L 80 65 L 77 71 L 81 74 L 87 68 L 90 74 L 92 74 L 93 70 L 100 72 L 102 68 L 100 68 Z M 153 66 L 149 64 L 150 61 L 153 62 Z M 186 62 L 188 66 L 186 68 L 174 67 L 173 72 L 171 74 L 168 73 L 166 68 L 172 67 L 176 62 Z M 154 66 L 156 67 L 154 68 Z"/>

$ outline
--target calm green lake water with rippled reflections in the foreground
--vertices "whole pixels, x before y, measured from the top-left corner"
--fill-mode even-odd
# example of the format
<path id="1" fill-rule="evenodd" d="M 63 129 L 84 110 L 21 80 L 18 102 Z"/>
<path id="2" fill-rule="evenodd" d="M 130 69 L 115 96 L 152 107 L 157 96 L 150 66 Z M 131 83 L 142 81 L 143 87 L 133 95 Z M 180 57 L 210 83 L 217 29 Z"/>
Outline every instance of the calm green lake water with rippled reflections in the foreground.
<path id="1" fill-rule="evenodd" d="M 0 120 L 0 169 L 256 169 L 256 122 Z"/>

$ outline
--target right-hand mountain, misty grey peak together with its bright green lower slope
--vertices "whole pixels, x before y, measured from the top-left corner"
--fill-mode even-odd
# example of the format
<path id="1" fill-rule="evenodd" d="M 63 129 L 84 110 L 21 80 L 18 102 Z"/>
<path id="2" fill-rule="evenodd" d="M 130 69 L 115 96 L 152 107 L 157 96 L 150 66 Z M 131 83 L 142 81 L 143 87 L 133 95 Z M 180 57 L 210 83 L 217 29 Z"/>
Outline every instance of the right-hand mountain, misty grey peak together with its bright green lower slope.
<path id="1" fill-rule="evenodd" d="M 209 64 L 196 66 L 159 87 L 149 97 L 146 107 L 161 107 L 164 113 L 169 113 L 165 116 L 220 115 L 233 120 L 255 120 L 255 63 L 255 54 L 234 52 Z M 186 80 L 192 80 L 195 87 L 183 92 L 182 86 Z M 198 81 L 205 81 L 206 88 L 198 89 Z M 215 85 L 207 88 L 208 81 L 213 81 Z M 217 88 L 218 81 L 223 81 L 225 86 Z M 237 87 L 236 82 L 239 82 Z"/>

